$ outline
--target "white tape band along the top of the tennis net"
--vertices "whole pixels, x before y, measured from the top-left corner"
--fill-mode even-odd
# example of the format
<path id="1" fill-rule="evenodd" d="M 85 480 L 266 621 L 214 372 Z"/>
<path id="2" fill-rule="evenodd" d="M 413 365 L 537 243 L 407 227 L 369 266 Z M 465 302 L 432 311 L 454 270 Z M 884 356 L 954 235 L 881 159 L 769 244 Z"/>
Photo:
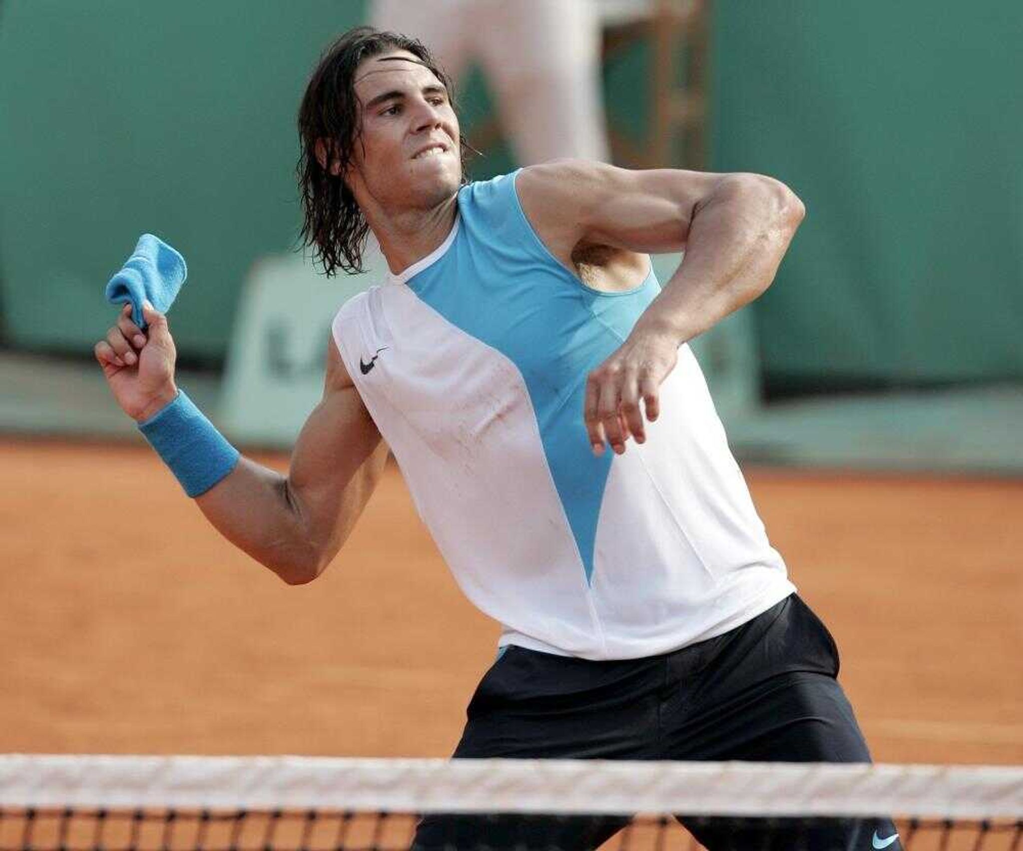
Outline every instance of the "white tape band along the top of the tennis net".
<path id="1" fill-rule="evenodd" d="M 0 755 L 0 808 L 1023 816 L 1023 767 Z"/>

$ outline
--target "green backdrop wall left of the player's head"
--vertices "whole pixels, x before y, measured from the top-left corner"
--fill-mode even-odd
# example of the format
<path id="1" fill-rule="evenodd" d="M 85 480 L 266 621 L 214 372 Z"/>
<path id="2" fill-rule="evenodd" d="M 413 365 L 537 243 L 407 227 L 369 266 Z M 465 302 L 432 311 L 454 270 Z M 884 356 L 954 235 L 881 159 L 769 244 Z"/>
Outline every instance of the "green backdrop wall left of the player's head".
<path id="1" fill-rule="evenodd" d="M 6 338 L 91 349 L 102 286 L 148 230 L 184 254 L 182 352 L 223 354 L 238 289 L 286 251 L 295 113 L 362 3 L 15 0 L 0 19 Z"/>

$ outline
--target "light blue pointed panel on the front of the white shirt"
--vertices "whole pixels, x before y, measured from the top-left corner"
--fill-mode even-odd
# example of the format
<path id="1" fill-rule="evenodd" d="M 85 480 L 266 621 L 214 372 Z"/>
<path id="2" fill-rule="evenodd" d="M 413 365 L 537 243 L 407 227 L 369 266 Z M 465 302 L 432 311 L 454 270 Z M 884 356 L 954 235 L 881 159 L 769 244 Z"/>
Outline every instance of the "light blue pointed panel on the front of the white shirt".
<path id="1" fill-rule="evenodd" d="M 596 522 L 614 453 L 595 457 L 583 423 L 586 375 L 628 337 L 660 292 L 653 270 L 626 293 L 585 286 L 540 241 L 515 176 L 458 192 L 459 230 L 408 286 L 441 316 L 496 349 L 522 373 L 544 455 L 592 581 Z"/>

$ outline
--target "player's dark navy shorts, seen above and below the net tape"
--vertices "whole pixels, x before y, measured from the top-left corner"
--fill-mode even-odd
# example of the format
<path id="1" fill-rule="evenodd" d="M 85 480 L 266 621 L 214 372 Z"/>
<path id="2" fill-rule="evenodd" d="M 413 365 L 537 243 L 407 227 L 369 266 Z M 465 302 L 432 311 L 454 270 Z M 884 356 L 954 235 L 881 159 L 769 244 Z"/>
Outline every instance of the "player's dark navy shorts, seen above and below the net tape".
<path id="1" fill-rule="evenodd" d="M 646 659 L 510 646 L 476 689 L 454 757 L 870 762 L 838 669 L 834 638 L 795 594 L 723 635 Z M 710 851 L 870 851 L 875 836 L 895 833 L 886 820 L 800 825 L 798 836 L 784 825 L 767 836 L 755 824 L 680 820 Z M 596 848 L 624 823 L 433 815 L 414 847 Z"/>

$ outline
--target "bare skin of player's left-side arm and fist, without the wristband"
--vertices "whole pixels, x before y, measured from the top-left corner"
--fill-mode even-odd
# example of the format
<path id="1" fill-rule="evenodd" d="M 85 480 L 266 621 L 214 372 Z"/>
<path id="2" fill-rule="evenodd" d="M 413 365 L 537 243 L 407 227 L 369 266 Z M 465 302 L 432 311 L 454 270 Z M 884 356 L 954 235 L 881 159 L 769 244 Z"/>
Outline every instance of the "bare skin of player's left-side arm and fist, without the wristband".
<path id="1" fill-rule="evenodd" d="M 148 420 L 178 394 L 177 350 L 167 317 L 146 303 L 139 329 L 126 305 L 94 347 L 114 398 Z M 362 404 L 333 340 L 323 398 L 306 420 L 287 476 L 249 458 L 196 497 L 229 541 L 290 584 L 309 582 L 330 563 L 365 507 L 387 460 L 387 445 Z"/>

